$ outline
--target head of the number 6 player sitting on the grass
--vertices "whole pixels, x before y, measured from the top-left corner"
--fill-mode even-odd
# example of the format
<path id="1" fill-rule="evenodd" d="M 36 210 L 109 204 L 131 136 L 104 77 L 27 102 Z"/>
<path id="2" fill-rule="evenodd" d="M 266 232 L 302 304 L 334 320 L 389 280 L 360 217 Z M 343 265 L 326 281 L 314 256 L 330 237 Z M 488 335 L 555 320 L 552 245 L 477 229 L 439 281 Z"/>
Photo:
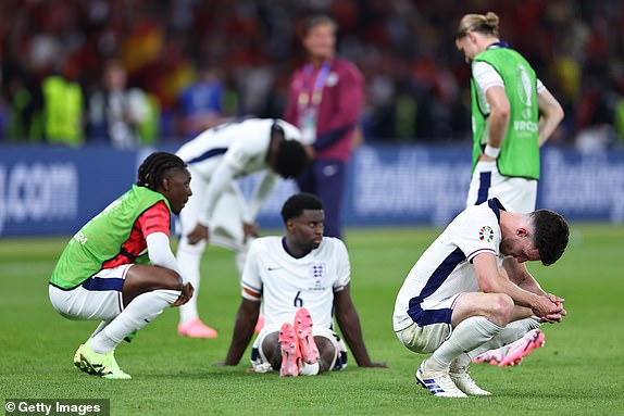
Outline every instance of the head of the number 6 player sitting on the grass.
<path id="1" fill-rule="evenodd" d="M 323 240 L 325 213 L 323 203 L 312 193 L 296 193 L 282 206 L 282 219 L 286 225 L 288 242 L 300 252 L 309 253 Z"/>

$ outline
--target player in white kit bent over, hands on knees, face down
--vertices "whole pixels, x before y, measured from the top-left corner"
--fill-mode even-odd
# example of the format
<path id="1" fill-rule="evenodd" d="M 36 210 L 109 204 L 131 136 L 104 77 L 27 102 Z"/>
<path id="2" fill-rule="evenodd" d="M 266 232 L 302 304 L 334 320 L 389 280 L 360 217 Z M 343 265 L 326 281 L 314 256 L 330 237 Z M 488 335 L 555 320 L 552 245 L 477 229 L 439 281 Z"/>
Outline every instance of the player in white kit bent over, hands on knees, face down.
<path id="1" fill-rule="evenodd" d="M 177 151 L 194 178 L 194 198 L 180 214 L 177 260 L 196 289 L 196 295 L 180 307 L 178 333 L 217 336 L 198 316 L 201 255 L 208 242 L 233 250 L 242 273 L 248 244 L 258 236 L 254 219 L 278 176 L 295 178 L 308 163 L 300 136 L 297 127 L 282 119 L 249 118 L 208 129 Z M 237 180 L 260 171 L 265 171 L 264 177 L 247 203 Z"/>

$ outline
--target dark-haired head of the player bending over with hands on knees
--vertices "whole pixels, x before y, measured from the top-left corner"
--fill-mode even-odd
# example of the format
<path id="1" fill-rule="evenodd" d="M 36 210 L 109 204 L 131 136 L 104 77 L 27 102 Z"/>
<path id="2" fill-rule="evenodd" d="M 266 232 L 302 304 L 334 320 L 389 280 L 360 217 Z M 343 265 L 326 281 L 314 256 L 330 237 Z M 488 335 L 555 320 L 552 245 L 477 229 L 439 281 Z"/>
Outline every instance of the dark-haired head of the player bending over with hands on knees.
<path id="1" fill-rule="evenodd" d="M 283 178 L 296 178 L 308 164 L 308 153 L 298 140 L 291 140 L 289 130 L 275 123 L 271 129 L 271 147 L 266 155 L 269 165 Z"/>

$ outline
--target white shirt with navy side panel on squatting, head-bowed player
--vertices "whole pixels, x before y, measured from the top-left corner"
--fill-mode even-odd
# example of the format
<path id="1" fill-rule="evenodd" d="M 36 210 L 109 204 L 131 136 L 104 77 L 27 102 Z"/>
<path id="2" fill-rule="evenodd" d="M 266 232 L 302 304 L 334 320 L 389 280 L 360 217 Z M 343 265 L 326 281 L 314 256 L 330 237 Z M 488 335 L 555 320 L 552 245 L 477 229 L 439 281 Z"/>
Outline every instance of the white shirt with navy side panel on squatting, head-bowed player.
<path id="1" fill-rule="evenodd" d="M 479 290 L 472 265 L 475 255 L 487 252 L 497 256 L 500 267 L 500 210 L 496 199 L 473 205 L 460 213 L 427 248 L 412 267 L 397 295 L 392 324 L 400 331 L 414 322 L 432 324 L 435 311 L 424 311 L 425 299 L 444 300 L 462 292 Z"/>

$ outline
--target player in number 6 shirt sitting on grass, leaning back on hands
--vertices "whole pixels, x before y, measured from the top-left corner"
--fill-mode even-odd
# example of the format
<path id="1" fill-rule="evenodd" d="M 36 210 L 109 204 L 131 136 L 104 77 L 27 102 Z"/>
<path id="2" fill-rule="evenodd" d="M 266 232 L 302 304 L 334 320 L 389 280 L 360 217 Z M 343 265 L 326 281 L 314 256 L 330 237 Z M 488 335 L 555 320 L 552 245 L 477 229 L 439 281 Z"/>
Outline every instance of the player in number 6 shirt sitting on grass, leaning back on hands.
<path id="1" fill-rule="evenodd" d="M 284 203 L 282 217 L 285 237 L 259 238 L 250 247 L 241 281 L 244 299 L 222 364 L 240 362 L 262 301 L 266 326 L 251 356 L 258 373 L 279 369 L 282 376 L 296 377 L 345 368 L 347 350 L 333 330 L 333 311 L 358 365 L 386 367 L 369 357 L 351 301 L 347 249 L 339 239 L 323 237 L 321 200 L 295 194 Z"/>

